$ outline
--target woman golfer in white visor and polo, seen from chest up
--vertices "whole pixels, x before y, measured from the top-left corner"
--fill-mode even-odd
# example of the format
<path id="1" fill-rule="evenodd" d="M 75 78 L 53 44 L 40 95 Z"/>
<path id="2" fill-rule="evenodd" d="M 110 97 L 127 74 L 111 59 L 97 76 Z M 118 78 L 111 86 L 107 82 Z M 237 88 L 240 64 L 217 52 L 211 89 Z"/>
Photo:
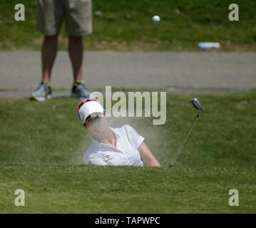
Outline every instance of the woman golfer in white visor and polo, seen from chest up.
<path id="1" fill-rule="evenodd" d="M 158 160 L 132 127 L 111 128 L 106 112 L 96 98 L 87 98 L 77 107 L 78 116 L 92 135 L 83 160 L 91 165 L 160 166 Z"/>

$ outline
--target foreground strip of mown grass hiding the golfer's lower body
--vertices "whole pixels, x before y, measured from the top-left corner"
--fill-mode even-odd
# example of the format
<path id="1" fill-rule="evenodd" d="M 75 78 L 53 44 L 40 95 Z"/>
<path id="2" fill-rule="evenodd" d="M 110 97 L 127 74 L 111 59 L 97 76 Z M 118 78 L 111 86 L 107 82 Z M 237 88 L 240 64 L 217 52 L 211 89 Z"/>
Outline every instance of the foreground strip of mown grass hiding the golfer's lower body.
<path id="1" fill-rule="evenodd" d="M 4 165 L 1 213 L 255 213 L 255 168 Z M 3 186 L 3 187 L 2 187 Z M 25 191 L 25 207 L 14 191 Z M 230 189 L 239 207 L 228 204 Z"/>

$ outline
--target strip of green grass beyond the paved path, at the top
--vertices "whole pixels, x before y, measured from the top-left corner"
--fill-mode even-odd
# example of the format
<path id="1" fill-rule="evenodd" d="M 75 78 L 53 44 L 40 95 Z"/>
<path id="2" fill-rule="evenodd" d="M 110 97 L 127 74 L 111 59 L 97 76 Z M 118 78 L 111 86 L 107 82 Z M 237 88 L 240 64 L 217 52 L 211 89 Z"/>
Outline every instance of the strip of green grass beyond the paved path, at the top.
<path id="1" fill-rule="evenodd" d="M 26 21 L 14 20 L 18 0 L 0 2 L 0 49 L 41 48 L 36 31 L 36 1 L 26 0 Z M 84 38 L 86 50 L 184 51 L 198 50 L 201 41 L 219 41 L 221 51 L 255 51 L 256 2 L 237 0 L 239 21 L 229 21 L 227 0 L 110 0 L 93 1 L 93 34 Z M 152 16 L 159 15 L 159 24 Z M 64 28 L 59 48 L 66 49 Z"/>

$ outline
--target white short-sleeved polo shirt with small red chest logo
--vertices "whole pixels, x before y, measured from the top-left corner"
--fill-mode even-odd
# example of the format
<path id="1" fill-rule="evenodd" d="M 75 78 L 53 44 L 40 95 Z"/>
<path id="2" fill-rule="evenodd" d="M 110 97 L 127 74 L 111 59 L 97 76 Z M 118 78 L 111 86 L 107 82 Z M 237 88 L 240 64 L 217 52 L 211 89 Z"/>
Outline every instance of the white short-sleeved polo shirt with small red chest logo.
<path id="1" fill-rule="evenodd" d="M 92 139 L 91 146 L 83 155 L 88 165 L 132 165 L 143 166 L 138 147 L 144 138 L 129 125 L 111 128 L 116 135 L 116 148 Z"/>

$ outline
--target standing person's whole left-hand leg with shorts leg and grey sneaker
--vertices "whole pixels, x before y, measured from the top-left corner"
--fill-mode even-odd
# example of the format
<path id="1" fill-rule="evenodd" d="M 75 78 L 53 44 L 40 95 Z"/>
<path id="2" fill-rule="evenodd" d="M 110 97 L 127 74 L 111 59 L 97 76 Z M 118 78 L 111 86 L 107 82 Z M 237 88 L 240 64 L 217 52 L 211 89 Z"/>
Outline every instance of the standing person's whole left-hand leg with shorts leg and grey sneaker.
<path id="1" fill-rule="evenodd" d="M 51 69 L 57 54 L 57 39 L 64 18 L 64 1 L 38 0 L 36 28 L 43 33 L 41 47 L 41 82 L 31 93 L 31 99 L 51 98 Z"/>

